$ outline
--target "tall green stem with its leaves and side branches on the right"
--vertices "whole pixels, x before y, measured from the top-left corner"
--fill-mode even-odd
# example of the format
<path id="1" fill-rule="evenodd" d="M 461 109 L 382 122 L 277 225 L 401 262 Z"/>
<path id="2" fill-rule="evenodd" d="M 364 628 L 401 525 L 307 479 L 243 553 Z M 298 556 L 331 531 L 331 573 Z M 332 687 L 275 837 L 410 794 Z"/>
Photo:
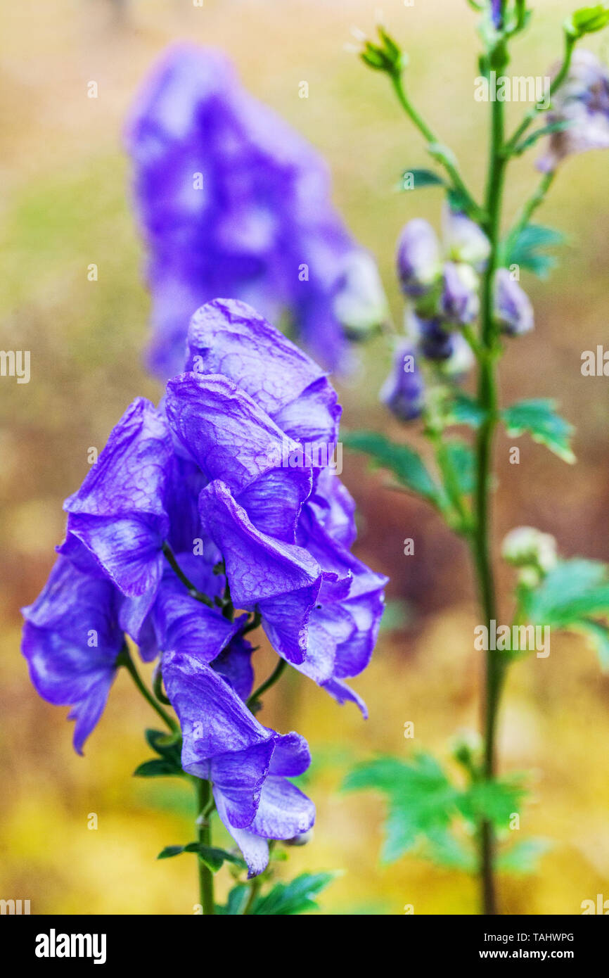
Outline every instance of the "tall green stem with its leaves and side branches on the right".
<path id="1" fill-rule="evenodd" d="M 515 0 L 513 3 L 503 0 L 499 12 L 495 7 L 491 11 L 488 0 L 486 3 L 478 3 L 476 0 L 468 2 L 483 15 L 480 33 L 485 50 L 480 59 L 481 70 L 488 79 L 492 76 L 499 78 L 509 63 L 509 41 L 529 22 L 530 11 L 526 0 Z M 517 436 L 528 431 L 535 440 L 547 445 L 564 461 L 575 461 L 569 445 L 571 427 L 554 413 L 552 402 L 539 399 L 500 408 L 498 368 L 502 343 L 500 325 L 495 314 L 497 272 L 501 267 L 518 264 L 519 260 L 524 264 L 525 258 L 528 258 L 527 267 L 542 274 L 544 269 L 550 267 L 551 259 L 544 255 L 535 255 L 534 263 L 531 253 L 535 246 L 539 249 L 557 244 L 560 240 L 560 236 L 551 229 L 540 228 L 531 223 L 534 212 L 544 202 L 552 184 L 553 170 L 544 173 L 537 189 L 521 207 L 513 226 L 502 237 L 506 170 L 511 158 L 521 156 L 541 136 L 549 136 L 570 124 L 565 120 L 554 120 L 526 136 L 533 122 L 550 108 L 553 95 L 567 78 L 577 40 L 588 32 L 601 29 L 607 23 L 609 8 L 599 5 L 576 12 L 563 24 L 563 60 L 551 82 L 549 97 L 526 112 L 511 137 L 507 138 L 505 135 L 504 103 L 499 98 L 491 99 L 489 159 L 486 189 L 481 203 L 468 190 L 459 172 L 456 156 L 448 147 L 439 143 L 431 126 L 413 108 L 404 81 L 407 59 L 383 26 L 378 27 L 379 42 L 367 41 L 361 52 L 362 60 L 369 67 L 388 75 L 398 102 L 423 136 L 428 153 L 444 168 L 444 179 L 425 170 L 413 171 L 413 174 L 418 175 L 418 186 L 444 186 L 450 205 L 458 211 L 464 211 L 485 232 L 489 242 L 489 255 L 480 285 L 478 333 L 471 326 L 462 329 L 462 335 L 477 363 L 476 398 L 472 400 L 441 381 L 437 388 L 440 396 L 428 397 L 423 410 L 423 434 L 433 447 L 440 484 L 428 473 L 417 453 L 407 445 L 397 445 L 382 435 L 367 431 L 353 432 L 345 441 L 348 447 L 369 454 L 377 465 L 389 468 L 400 486 L 423 496 L 442 513 L 449 526 L 464 538 L 471 555 L 481 621 L 487 629 L 487 635 L 492 630 L 491 622 L 498 622 L 500 619 L 492 546 L 492 491 L 495 481 L 493 456 L 498 424 L 502 422 L 509 435 Z M 410 186 L 405 184 L 404 189 L 410 190 L 416 185 L 414 181 Z M 525 257 L 514 257 L 518 248 Z M 433 294 L 432 292 L 432 300 Z M 446 436 L 445 429 L 454 423 L 469 424 L 474 428 L 473 453 L 464 443 Z M 464 467 L 467 469 L 465 472 Z M 471 473 L 469 468 L 472 469 Z M 470 497 L 469 502 L 464 498 L 466 496 Z M 583 614 L 584 608 L 587 612 L 593 609 L 594 613 L 609 608 L 609 586 L 606 584 L 605 568 L 595 565 L 593 561 L 582 560 L 563 560 L 553 567 L 551 561 L 545 562 L 543 559 L 547 540 L 553 538 L 546 535 L 544 538 L 540 531 L 532 532 L 538 535 L 534 543 L 541 548 L 542 556 L 532 559 L 525 554 L 512 558 L 504 553 L 506 559 L 523 568 L 516 589 L 513 621 L 518 625 L 526 621 L 544 621 L 548 625 L 557 624 L 558 627 L 587 632 L 599 651 L 601 662 L 608 661 L 609 629 L 598 620 L 590 622 L 587 615 Z M 573 575 L 572 581 L 568 578 L 569 573 Z M 574 594 L 577 595 L 577 600 L 571 597 Z M 360 766 L 346 782 L 348 788 L 380 787 L 388 794 L 392 816 L 388 823 L 390 828 L 385 853 L 389 852 L 391 858 L 395 859 L 397 855 L 412 848 L 420 836 L 427 837 L 432 848 L 435 846 L 436 854 L 444 852 L 446 856 L 451 850 L 451 842 L 446 833 L 457 815 L 469 824 L 470 829 L 474 828 L 478 849 L 481 909 L 485 914 L 499 912 L 496 825 L 505 826 L 510 817 L 509 806 L 515 805 L 518 792 L 522 793 L 513 781 L 510 783 L 509 779 L 499 778 L 497 758 L 501 692 L 508 666 L 522 658 L 520 651 L 514 653 L 510 650 L 506 653 L 499 648 L 493 648 L 491 643 L 488 645 L 481 708 L 482 748 L 476 752 L 467 744 L 461 743 L 454 753 L 461 774 L 465 774 L 469 780 L 467 788 L 452 785 L 441 767 L 428 755 L 418 755 L 411 764 L 392 758 L 379 759 Z M 427 801 L 423 797 L 425 793 Z M 417 807 L 419 794 L 421 803 Z M 433 804 L 429 797 L 435 798 Z M 434 805 L 437 809 L 435 814 Z M 400 817 L 402 808 L 406 812 L 403 824 Z M 455 856 L 456 852 L 453 851 L 451 858 L 455 859 Z M 459 857 L 459 860 L 462 867 L 469 865 L 467 859 Z"/>

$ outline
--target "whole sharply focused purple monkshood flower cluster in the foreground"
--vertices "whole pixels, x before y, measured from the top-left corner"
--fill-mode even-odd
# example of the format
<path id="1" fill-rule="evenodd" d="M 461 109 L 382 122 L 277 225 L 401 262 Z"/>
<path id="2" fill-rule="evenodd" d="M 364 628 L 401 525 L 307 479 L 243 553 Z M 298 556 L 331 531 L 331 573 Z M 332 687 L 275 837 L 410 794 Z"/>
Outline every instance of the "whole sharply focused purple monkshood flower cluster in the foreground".
<path id="1" fill-rule="evenodd" d="M 346 680 L 370 661 L 387 579 L 351 554 L 354 504 L 332 453 L 304 450 L 334 447 L 339 418 L 326 374 L 283 333 L 237 300 L 203 306 L 185 373 L 158 408 L 134 401 L 65 501 L 61 556 L 23 610 L 32 682 L 72 707 L 78 751 L 125 634 L 159 656 L 183 767 L 212 781 L 250 874 L 266 839 L 307 832 L 314 808 L 286 780 L 307 767 L 305 742 L 246 706 L 245 628 L 260 621 L 279 655 L 366 712 Z"/>

